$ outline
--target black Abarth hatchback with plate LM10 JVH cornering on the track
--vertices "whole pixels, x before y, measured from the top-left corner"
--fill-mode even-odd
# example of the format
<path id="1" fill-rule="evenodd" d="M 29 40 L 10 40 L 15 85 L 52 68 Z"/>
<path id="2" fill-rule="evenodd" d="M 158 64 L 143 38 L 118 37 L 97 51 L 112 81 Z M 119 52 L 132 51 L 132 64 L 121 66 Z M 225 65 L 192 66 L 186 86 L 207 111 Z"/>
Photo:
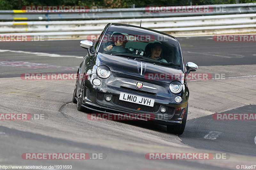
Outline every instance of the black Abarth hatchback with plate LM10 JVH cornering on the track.
<path id="1" fill-rule="evenodd" d="M 177 38 L 152 29 L 109 23 L 77 71 L 73 102 L 77 109 L 108 114 L 154 115 L 154 122 L 181 135 L 188 114 L 186 76 L 197 65 L 188 62 L 185 72 Z M 151 121 L 151 120 L 150 120 Z"/>

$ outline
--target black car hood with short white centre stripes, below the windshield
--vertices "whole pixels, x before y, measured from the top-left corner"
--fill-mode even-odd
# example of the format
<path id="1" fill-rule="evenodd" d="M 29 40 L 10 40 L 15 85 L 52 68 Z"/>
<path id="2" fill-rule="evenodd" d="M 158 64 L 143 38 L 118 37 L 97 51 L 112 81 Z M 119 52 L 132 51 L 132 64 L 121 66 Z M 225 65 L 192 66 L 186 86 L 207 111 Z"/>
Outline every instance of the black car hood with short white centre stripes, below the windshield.
<path id="1" fill-rule="evenodd" d="M 184 84 L 184 71 L 179 69 L 102 53 L 98 53 L 94 63 L 97 66 L 106 65 L 111 71 L 121 74 L 152 79 L 164 83 L 171 83 L 177 80 L 181 84 Z"/>

